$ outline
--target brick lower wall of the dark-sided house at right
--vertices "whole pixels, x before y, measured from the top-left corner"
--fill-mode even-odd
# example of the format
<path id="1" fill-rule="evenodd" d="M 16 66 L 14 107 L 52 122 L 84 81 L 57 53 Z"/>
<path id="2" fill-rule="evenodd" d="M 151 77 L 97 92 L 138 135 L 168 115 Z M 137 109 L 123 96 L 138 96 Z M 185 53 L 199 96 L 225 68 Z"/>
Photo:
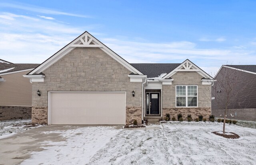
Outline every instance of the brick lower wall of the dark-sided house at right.
<path id="1" fill-rule="evenodd" d="M 224 109 L 212 109 L 212 114 L 223 118 Z M 256 108 L 228 109 L 226 115 L 228 119 L 256 121 Z"/>

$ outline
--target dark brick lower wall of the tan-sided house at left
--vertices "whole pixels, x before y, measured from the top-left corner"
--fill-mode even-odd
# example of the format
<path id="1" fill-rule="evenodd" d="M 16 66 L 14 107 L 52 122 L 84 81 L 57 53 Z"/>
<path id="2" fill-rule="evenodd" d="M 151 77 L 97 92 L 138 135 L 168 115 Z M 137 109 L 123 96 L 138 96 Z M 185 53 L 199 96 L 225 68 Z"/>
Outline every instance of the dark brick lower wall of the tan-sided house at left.
<path id="1" fill-rule="evenodd" d="M 31 107 L 0 106 L 0 121 L 31 119 Z"/>

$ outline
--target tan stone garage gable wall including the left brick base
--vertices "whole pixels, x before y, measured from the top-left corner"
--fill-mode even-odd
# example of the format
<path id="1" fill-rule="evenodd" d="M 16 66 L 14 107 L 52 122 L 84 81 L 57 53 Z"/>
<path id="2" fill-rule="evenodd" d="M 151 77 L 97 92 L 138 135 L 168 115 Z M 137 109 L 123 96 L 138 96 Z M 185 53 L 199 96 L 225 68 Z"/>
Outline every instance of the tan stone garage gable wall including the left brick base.
<path id="1" fill-rule="evenodd" d="M 32 121 L 35 123 L 47 123 L 48 91 L 126 91 L 127 107 L 142 106 L 142 83 L 130 82 L 131 72 L 100 48 L 75 48 L 43 73 L 44 82 L 32 84 Z M 38 89 L 41 96 L 36 93 Z"/>

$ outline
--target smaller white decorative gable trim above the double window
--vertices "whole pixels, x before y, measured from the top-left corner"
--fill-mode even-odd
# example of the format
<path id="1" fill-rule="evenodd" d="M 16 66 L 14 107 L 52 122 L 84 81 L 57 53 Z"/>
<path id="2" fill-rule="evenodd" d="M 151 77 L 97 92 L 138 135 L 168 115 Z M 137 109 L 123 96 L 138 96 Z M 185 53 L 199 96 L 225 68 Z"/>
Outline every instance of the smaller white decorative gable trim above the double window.
<path id="1" fill-rule="evenodd" d="M 214 80 L 210 75 L 206 74 L 203 70 L 201 70 L 198 66 L 196 66 L 194 63 L 192 63 L 190 60 L 185 60 L 180 64 L 177 68 L 172 70 L 172 72 L 168 73 L 166 76 L 164 76 L 162 79 L 168 79 L 177 72 L 197 72 L 202 77 L 207 78 L 209 80 Z"/>

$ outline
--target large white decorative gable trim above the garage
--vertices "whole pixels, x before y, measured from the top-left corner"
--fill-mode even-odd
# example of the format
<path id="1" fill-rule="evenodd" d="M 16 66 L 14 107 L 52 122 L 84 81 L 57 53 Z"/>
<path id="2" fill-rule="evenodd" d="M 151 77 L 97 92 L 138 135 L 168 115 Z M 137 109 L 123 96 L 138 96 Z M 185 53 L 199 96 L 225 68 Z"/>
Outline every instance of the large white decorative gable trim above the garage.
<path id="1" fill-rule="evenodd" d="M 75 40 L 70 42 L 68 45 L 66 45 L 64 48 L 59 50 L 56 54 L 48 58 L 46 61 L 44 61 L 42 64 L 40 64 L 38 67 L 36 67 L 34 70 L 29 72 L 27 75 L 32 74 L 39 74 L 52 66 L 55 62 L 60 60 L 62 57 L 64 57 L 66 54 L 71 52 L 76 47 L 97 47 L 100 48 L 102 51 L 104 51 L 106 54 L 108 54 L 110 57 L 112 57 L 114 60 L 119 62 L 122 66 L 124 66 L 126 69 L 128 69 L 130 72 L 134 74 L 143 75 L 140 71 L 138 71 L 136 68 L 131 66 L 126 60 L 118 56 L 115 52 L 113 52 L 110 48 L 102 44 L 99 40 L 94 38 L 90 33 L 87 31 L 78 36 Z"/>

